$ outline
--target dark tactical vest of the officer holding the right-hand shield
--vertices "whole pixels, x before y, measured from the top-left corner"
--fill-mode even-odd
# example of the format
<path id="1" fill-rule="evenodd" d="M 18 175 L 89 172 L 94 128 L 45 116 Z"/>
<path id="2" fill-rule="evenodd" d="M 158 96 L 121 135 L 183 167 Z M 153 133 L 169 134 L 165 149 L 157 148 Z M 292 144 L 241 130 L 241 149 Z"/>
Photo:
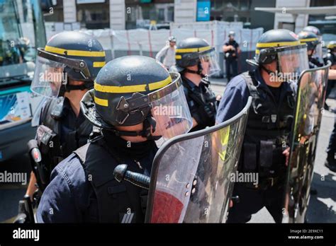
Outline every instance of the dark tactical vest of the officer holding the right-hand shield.
<path id="1" fill-rule="evenodd" d="M 247 127 L 240 156 L 242 172 L 259 172 L 260 178 L 282 177 L 286 172 L 286 157 L 282 152 L 289 147 L 295 88 L 293 83 L 281 88 L 276 102 L 266 85 L 259 85 L 253 72 L 241 74 L 252 96 Z"/>

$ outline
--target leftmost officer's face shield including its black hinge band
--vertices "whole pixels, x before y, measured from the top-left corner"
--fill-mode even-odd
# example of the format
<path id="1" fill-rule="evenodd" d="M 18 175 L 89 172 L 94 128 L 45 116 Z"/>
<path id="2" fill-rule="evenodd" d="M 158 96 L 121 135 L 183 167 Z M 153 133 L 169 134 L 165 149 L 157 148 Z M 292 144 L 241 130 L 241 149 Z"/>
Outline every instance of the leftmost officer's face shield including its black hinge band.
<path id="1" fill-rule="evenodd" d="M 46 98 L 57 98 L 62 84 L 67 83 L 66 66 L 81 71 L 84 78 L 90 76 L 85 61 L 68 59 L 38 49 L 35 73 L 30 90 Z"/>

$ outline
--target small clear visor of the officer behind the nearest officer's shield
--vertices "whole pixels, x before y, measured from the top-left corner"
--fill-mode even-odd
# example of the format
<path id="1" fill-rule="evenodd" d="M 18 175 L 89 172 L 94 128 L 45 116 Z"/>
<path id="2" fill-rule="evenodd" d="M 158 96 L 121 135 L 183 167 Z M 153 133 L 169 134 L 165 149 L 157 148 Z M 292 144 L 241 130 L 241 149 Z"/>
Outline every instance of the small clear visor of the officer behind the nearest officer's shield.
<path id="1" fill-rule="evenodd" d="M 204 75 L 211 76 L 220 71 L 214 47 L 212 47 L 210 50 L 200 52 L 199 59 L 201 61 L 201 66 Z"/>

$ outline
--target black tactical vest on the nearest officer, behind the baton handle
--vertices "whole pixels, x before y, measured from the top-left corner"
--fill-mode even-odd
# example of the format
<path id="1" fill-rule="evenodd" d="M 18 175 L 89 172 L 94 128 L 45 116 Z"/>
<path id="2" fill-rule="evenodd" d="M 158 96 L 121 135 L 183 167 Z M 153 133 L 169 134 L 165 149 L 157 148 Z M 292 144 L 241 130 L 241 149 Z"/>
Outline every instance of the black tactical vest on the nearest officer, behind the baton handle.
<path id="1" fill-rule="evenodd" d="M 127 160 L 118 160 L 116 156 L 118 153 L 107 146 L 103 137 L 97 137 L 74 151 L 82 163 L 95 194 L 91 197 L 89 205 L 90 221 L 85 222 L 145 222 L 147 190 L 127 181 L 117 182 L 113 176 L 113 170 L 119 164 L 128 164 L 128 170 L 142 173 L 145 170 L 144 161 L 150 162 L 150 168 L 152 167 L 156 150 L 157 148 L 149 153 L 146 160 L 140 161 L 142 169 L 130 156 Z"/>

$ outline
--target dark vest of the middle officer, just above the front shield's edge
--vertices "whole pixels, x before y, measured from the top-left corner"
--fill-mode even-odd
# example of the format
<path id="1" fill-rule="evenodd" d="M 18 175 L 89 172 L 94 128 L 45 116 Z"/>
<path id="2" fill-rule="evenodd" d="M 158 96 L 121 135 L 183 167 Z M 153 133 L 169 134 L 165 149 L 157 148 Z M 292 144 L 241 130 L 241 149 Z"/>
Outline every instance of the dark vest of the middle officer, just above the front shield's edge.
<path id="1" fill-rule="evenodd" d="M 198 122 L 191 131 L 212 127 L 215 124 L 218 101 L 215 99 L 215 93 L 209 87 L 210 83 L 203 80 L 199 85 L 201 90 L 198 90 L 198 88 L 191 87 L 186 78 L 182 76 L 182 84 L 190 111 L 195 112 L 192 117 Z"/>

